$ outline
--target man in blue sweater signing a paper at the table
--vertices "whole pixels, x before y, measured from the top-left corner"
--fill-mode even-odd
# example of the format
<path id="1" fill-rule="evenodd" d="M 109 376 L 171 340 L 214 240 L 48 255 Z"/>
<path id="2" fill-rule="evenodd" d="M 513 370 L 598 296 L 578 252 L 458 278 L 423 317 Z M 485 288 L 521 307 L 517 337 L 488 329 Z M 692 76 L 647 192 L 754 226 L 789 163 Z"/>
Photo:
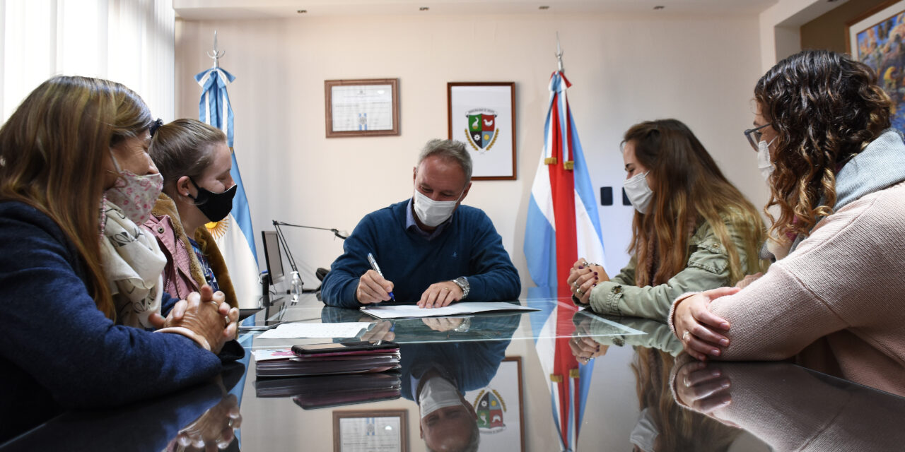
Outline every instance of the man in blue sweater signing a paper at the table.
<path id="1" fill-rule="evenodd" d="M 440 307 L 462 299 L 518 298 L 519 273 L 491 219 L 461 205 L 472 188 L 472 157 L 465 146 L 428 141 L 413 179 L 411 199 L 358 222 L 324 278 L 324 303 L 359 307 L 393 300 Z M 368 253 L 383 275 L 371 268 Z"/>

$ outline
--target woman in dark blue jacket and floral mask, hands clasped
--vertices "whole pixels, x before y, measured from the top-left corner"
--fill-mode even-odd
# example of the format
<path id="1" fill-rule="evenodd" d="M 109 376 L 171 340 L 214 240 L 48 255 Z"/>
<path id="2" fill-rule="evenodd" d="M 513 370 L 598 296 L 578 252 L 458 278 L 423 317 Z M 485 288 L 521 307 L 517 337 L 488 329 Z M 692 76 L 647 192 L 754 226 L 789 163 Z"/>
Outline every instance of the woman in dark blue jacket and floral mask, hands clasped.
<path id="1" fill-rule="evenodd" d="M 154 240 L 133 227 L 159 193 L 153 124 L 118 83 L 54 77 L 0 128 L 0 442 L 220 371 L 238 311 L 209 287 L 161 294 Z"/>

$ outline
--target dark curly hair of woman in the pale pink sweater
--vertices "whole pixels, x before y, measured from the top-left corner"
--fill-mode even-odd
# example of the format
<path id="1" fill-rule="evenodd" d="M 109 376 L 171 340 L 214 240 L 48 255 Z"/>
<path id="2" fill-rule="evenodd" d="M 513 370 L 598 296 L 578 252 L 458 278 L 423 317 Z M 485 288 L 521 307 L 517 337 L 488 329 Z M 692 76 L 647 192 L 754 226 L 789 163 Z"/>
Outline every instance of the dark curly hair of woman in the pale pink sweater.
<path id="1" fill-rule="evenodd" d="M 830 51 L 779 61 L 757 80 L 754 99 L 777 134 L 764 208 L 771 234 L 806 234 L 833 212 L 837 168 L 890 127 L 891 100 L 870 67 Z M 778 220 L 767 211 L 774 205 Z"/>

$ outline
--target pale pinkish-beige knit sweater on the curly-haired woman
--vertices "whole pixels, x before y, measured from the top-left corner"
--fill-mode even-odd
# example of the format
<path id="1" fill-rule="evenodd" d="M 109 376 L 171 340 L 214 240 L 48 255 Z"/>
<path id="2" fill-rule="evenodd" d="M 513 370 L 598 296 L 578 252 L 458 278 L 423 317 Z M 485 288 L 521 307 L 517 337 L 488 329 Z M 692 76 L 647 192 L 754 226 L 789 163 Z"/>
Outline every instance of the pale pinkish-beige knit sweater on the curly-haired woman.
<path id="1" fill-rule="evenodd" d="M 905 395 L 905 183 L 826 217 L 763 278 L 710 311 L 731 325 L 718 359 L 795 357 Z"/>

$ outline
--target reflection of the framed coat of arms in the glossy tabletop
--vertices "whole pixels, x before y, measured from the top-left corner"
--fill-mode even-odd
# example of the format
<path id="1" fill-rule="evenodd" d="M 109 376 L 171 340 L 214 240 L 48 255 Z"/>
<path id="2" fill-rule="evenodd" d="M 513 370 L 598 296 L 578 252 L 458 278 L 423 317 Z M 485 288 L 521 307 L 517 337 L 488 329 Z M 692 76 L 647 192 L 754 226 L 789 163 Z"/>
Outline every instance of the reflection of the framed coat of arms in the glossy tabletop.
<path id="1" fill-rule="evenodd" d="M 521 357 L 507 356 L 491 383 L 465 393 L 478 413 L 480 451 L 525 450 L 525 413 L 521 400 Z M 518 444 L 518 447 L 513 445 Z"/>

